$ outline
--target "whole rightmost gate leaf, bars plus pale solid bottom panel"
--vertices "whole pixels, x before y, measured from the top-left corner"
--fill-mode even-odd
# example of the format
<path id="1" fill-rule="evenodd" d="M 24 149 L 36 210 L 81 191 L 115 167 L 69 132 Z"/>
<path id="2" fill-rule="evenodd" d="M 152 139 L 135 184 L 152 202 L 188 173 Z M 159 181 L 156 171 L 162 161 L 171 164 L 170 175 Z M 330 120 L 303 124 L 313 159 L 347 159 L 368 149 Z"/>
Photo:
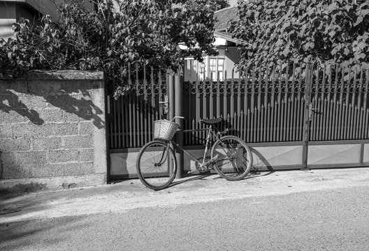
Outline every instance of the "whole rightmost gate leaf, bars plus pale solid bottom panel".
<path id="1" fill-rule="evenodd" d="M 369 165 L 369 70 L 307 66 L 303 167 Z"/>

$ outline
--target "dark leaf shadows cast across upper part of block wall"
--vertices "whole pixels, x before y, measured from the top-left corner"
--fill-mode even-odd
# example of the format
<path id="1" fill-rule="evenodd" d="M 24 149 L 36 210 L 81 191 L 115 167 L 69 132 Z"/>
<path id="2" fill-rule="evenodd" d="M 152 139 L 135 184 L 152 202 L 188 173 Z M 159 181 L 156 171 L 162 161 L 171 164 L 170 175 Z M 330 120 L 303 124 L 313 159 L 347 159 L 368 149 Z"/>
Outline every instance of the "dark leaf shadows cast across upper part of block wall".
<path id="1" fill-rule="evenodd" d="M 63 79 L 63 78 L 61 78 Z M 95 83 L 95 84 L 94 84 Z M 26 88 L 27 86 L 27 88 Z M 96 128 L 103 128 L 105 122 L 99 117 L 103 111 L 92 102 L 92 96 L 89 91 L 83 90 L 96 88 L 96 82 L 91 84 L 82 83 L 82 88 L 78 88 L 79 84 L 73 82 L 63 82 L 55 84 L 55 86 L 48 85 L 43 81 L 40 83 L 28 86 L 27 80 L 24 83 L 17 83 L 13 85 L 13 91 L 5 90 L 0 95 L 0 110 L 2 112 L 10 113 L 10 111 L 17 112 L 21 116 L 27 117 L 31 123 L 42 125 L 45 123 L 42 116 L 35 110 L 29 109 L 27 105 L 20 100 L 18 93 L 27 94 L 31 96 L 41 97 L 40 102 L 48 102 L 54 107 L 59 107 L 67 113 L 75 114 L 83 120 L 93 121 Z M 58 89 L 59 88 L 59 89 Z M 101 94 L 103 96 L 103 93 Z M 103 102 L 103 101 L 102 101 Z"/>

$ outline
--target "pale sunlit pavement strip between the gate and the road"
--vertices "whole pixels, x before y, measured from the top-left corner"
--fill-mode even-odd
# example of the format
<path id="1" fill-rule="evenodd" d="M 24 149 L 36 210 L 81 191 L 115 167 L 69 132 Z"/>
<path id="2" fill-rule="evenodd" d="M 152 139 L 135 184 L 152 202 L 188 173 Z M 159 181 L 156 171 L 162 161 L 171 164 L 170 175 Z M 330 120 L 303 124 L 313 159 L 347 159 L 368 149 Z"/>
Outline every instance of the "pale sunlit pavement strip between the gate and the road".
<path id="1" fill-rule="evenodd" d="M 217 174 L 199 175 L 176 179 L 170 188 L 160 191 L 132 179 L 90 188 L 0 197 L 0 224 L 357 186 L 369 186 L 369 168 L 261 172 L 233 182 Z"/>

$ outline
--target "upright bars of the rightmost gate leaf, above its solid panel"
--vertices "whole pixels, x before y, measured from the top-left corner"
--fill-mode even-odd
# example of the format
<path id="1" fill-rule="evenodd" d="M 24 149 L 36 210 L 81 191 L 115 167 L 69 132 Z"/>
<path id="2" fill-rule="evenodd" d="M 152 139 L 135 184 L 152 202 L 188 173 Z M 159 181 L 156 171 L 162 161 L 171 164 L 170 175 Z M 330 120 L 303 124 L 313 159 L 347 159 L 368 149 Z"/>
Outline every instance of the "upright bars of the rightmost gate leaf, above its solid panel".
<path id="1" fill-rule="evenodd" d="M 368 82 L 368 69 L 314 68 L 310 142 L 369 139 Z"/>

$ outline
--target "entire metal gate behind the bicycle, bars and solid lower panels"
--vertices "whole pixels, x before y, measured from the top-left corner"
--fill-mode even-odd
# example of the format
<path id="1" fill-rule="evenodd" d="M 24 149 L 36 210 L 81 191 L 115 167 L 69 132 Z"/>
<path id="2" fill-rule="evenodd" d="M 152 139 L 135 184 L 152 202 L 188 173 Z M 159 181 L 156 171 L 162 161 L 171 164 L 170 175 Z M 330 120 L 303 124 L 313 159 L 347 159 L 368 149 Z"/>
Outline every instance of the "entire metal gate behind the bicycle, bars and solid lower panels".
<path id="1" fill-rule="evenodd" d="M 237 79 L 233 73 L 228 76 L 184 82 L 174 81 L 166 71 L 136 68 L 123 83 L 129 91 L 117 100 L 113 91 L 122 82 L 110 84 L 110 178 L 135 176 L 135 154 L 152 139 L 152 122 L 175 112 L 185 117 L 184 130 L 201 128 L 200 119 L 222 116 L 252 146 L 255 160 L 265 169 L 369 165 L 368 69 L 291 65 L 284 70 L 253 68 Z M 168 93 L 174 82 L 175 93 Z M 166 100 L 175 107 L 172 114 L 161 103 Z M 183 134 L 185 149 L 202 149 L 199 134 Z"/>

